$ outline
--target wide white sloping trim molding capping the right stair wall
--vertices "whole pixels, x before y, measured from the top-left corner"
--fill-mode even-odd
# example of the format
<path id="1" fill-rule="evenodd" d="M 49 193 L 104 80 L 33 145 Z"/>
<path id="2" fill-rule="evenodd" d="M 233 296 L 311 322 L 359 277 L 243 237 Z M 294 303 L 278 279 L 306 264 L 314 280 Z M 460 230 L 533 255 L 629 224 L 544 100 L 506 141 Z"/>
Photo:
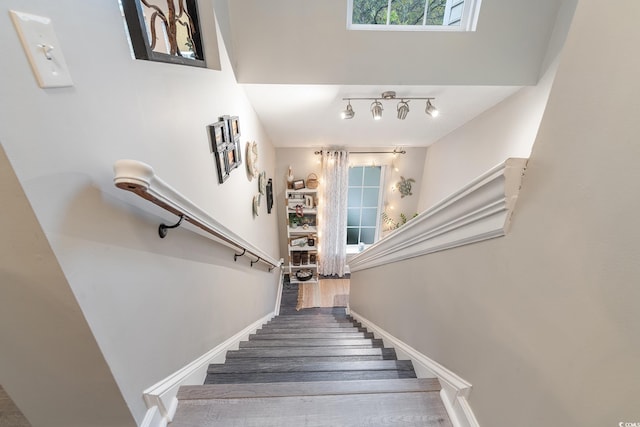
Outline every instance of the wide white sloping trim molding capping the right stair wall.
<path id="1" fill-rule="evenodd" d="M 351 258 L 352 272 L 504 236 L 527 159 L 507 159 Z"/>

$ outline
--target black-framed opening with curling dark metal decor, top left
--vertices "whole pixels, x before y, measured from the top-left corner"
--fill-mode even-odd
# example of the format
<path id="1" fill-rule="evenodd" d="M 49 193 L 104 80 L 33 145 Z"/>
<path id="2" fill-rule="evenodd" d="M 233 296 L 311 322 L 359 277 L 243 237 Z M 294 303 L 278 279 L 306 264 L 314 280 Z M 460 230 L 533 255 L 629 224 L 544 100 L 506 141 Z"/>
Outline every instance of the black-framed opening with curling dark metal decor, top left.
<path id="1" fill-rule="evenodd" d="M 137 59 L 206 67 L 197 0 L 122 0 Z"/>

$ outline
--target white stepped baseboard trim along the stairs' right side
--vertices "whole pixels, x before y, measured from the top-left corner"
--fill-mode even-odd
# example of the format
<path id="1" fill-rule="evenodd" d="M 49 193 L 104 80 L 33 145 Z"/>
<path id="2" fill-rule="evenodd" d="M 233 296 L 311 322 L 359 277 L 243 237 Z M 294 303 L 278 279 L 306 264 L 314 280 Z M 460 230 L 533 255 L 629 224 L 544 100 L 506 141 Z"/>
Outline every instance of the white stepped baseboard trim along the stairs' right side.
<path id="1" fill-rule="evenodd" d="M 418 378 L 436 377 L 440 380 L 442 385 L 440 395 L 454 427 L 480 427 L 467 401 L 471 392 L 471 383 L 394 337 L 364 316 L 350 308 L 348 312 L 354 319 L 362 323 L 369 332 L 373 332 L 376 338 L 382 338 L 386 347 L 395 348 L 398 359 L 411 360 Z"/>

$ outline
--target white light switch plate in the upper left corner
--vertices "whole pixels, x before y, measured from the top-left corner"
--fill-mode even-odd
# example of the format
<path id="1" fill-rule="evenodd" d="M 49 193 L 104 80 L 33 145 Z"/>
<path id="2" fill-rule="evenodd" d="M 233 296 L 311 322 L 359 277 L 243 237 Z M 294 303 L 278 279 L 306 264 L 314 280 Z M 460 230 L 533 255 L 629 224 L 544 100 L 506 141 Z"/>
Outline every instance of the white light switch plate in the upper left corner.
<path id="1" fill-rule="evenodd" d="M 40 87 L 73 86 L 51 19 L 15 10 L 9 14 Z"/>

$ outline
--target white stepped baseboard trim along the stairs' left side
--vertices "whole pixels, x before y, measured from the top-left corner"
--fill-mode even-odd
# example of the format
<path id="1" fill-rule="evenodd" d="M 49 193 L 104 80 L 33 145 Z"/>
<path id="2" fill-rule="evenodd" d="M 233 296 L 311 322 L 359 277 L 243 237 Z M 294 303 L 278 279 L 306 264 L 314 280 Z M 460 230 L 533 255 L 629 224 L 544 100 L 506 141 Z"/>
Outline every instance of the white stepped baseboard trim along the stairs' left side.
<path id="1" fill-rule="evenodd" d="M 193 362 L 147 388 L 143 392 L 143 398 L 148 409 L 140 426 L 166 427 L 176 413 L 176 395 L 180 386 L 203 384 L 210 363 L 223 363 L 228 350 L 238 349 L 240 341 L 246 340 L 274 316 L 275 312 L 271 312 L 258 319 Z"/>

